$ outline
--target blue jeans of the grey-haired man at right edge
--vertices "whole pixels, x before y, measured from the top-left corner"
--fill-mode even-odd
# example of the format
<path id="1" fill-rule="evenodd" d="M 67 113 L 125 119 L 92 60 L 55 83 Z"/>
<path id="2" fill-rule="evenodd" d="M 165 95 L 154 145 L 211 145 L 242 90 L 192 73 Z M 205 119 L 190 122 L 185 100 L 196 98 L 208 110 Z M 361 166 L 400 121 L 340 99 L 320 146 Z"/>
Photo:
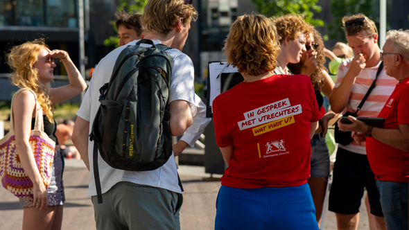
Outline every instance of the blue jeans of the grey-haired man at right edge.
<path id="1" fill-rule="evenodd" d="M 388 230 L 408 229 L 408 183 L 376 180 Z"/>

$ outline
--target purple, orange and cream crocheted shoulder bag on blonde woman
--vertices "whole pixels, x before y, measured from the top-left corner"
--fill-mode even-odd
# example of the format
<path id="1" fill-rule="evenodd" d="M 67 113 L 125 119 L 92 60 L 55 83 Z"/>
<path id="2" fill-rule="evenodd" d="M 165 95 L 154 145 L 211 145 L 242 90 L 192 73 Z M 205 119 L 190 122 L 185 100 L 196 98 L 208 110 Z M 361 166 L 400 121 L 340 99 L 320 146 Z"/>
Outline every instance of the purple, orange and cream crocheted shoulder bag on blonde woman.
<path id="1" fill-rule="evenodd" d="M 37 96 L 31 89 L 19 89 L 12 97 L 10 109 L 10 131 L 0 140 L 0 179 L 1 184 L 10 193 L 17 197 L 33 197 L 33 182 L 24 172 L 19 159 L 19 153 L 15 145 L 14 114 L 13 107 L 15 97 L 24 90 L 31 91 L 35 96 L 35 125 L 31 130 L 30 145 L 33 152 L 37 168 L 43 179 L 44 185 L 48 189 L 51 182 L 51 164 L 54 160 L 55 142 L 44 132 L 44 121 L 42 108 L 37 102 Z"/>

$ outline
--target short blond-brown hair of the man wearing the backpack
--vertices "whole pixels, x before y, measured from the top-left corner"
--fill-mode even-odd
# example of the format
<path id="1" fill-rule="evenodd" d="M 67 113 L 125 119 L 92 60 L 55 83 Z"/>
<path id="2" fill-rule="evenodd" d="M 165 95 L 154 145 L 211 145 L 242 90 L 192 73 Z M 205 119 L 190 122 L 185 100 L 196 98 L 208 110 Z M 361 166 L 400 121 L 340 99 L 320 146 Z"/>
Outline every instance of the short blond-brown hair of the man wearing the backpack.
<path id="1" fill-rule="evenodd" d="M 147 33 L 167 35 L 176 27 L 179 18 L 184 19 L 186 26 L 196 21 L 198 12 L 183 0 L 149 0 L 143 8 L 143 28 Z"/>

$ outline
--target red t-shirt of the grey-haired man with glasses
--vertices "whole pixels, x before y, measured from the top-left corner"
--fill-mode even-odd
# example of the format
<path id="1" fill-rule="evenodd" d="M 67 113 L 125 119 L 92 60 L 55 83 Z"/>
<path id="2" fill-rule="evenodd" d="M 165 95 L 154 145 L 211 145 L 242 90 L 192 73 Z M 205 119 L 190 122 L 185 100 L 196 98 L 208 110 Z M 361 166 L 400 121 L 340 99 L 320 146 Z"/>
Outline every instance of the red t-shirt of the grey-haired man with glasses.
<path id="1" fill-rule="evenodd" d="M 397 130 L 399 124 L 409 124 L 409 78 L 397 85 L 378 117 L 385 118 L 385 129 Z M 409 152 L 367 138 L 367 157 L 375 179 L 408 183 Z"/>

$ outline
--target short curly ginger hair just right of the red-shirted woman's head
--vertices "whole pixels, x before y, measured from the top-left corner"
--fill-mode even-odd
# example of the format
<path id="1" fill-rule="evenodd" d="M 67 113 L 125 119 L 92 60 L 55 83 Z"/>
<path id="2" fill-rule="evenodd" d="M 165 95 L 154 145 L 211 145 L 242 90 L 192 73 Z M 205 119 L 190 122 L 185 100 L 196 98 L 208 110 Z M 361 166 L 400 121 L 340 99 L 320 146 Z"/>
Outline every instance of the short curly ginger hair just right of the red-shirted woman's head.
<path id="1" fill-rule="evenodd" d="M 293 40 L 299 37 L 301 33 L 308 34 L 309 26 L 304 21 L 302 15 L 284 15 L 281 17 L 275 17 L 273 22 L 277 28 L 277 34 L 281 37 L 280 44 L 284 42 L 284 39 Z"/>

